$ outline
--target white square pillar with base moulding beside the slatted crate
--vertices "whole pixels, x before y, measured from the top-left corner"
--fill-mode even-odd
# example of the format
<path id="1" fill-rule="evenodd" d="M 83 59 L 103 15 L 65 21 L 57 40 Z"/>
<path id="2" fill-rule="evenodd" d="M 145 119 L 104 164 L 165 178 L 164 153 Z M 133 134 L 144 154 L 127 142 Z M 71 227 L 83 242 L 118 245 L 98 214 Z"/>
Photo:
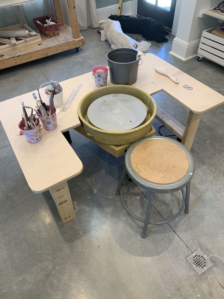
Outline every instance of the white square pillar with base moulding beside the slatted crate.
<path id="1" fill-rule="evenodd" d="M 219 1 L 219 0 L 218 0 Z M 177 34 L 173 40 L 170 54 L 182 60 L 197 56 L 198 46 L 203 30 L 215 27 L 215 18 L 199 18 L 202 9 L 217 5 L 217 0 L 183 0 L 180 6 L 180 16 Z"/>

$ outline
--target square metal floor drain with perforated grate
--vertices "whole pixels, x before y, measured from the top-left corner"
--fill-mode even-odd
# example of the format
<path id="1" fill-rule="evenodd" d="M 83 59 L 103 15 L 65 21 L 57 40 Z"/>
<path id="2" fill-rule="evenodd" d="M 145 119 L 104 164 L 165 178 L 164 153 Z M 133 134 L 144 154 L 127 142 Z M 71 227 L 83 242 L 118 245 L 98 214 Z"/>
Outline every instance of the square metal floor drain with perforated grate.
<path id="1" fill-rule="evenodd" d="M 194 253 L 188 256 L 187 260 L 199 275 L 201 275 L 213 265 L 207 255 L 204 254 L 204 252 L 200 248 L 198 248 Z"/>

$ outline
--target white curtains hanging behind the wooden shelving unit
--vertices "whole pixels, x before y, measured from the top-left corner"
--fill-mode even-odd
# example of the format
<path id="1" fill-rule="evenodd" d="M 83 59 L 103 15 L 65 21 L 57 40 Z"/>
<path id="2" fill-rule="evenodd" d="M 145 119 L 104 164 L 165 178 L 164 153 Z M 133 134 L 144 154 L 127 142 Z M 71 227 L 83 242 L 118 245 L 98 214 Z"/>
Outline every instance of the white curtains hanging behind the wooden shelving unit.
<path id="1" fill-rule="evenodd" d="M 70 25 L 67 1 L 60 1 L 64 22 Z M 100 26 L 95 0 L 76 0 L 75 3 L 80 30 L 86 30 L 89 26 L 93 28 Z M 27 23 L 32 29 L 35 29 L 36 26 L 32 19 L 46 14 L 55 16 L 52 0 L 37 0 L 17 6 L 3 7 L 0 9 L 0 28 L 15 25 L 22 21 Z"/>

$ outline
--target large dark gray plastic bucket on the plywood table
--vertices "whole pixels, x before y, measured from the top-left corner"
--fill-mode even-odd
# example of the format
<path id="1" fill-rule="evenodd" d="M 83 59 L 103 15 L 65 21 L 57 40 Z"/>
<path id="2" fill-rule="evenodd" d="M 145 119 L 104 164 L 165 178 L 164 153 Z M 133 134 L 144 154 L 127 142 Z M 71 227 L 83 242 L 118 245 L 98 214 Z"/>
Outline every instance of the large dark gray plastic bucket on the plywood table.
<path id="1" fill-rule="evenodd" d="M 113 84 L 131 85 L 137 81 L 138 65 L 141 56 L 136 60 L 138 51 L 129 48 L 115 49 L 107 53 L 110 81 Z"/>

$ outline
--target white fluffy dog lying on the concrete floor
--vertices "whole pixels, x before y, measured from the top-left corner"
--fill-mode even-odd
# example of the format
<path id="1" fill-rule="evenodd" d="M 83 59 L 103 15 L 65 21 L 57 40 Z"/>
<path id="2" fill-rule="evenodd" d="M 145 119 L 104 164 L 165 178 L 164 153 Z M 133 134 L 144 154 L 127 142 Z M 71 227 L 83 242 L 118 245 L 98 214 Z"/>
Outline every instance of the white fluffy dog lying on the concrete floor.
<path id="1" fill-rule="evenodd" d="M 148 52 L 151 43 L 147 41 L 135 41 L 130 36 L 124 34 L 121 30 L 119 21 L 107 19 L 102 25 L 101 29 L 97 30 L 101 34 L 101 41 L 108 41 L 111 49 L 130 48 L 137 51 Z"/>

